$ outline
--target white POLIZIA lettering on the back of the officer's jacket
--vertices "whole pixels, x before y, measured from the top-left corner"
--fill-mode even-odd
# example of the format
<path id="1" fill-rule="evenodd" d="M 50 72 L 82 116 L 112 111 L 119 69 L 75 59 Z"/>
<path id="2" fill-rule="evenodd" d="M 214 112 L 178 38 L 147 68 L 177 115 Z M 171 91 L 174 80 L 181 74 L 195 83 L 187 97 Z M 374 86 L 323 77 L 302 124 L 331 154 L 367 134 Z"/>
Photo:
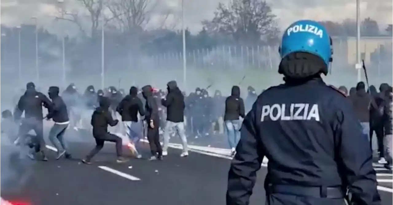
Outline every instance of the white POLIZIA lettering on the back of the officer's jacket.
<path id="1" fill-rule="evenodd" d="M 263 105 L 261 122 L 279 120 L 314 120 L 320 121 L 317 104 L 291 103 Z"/>

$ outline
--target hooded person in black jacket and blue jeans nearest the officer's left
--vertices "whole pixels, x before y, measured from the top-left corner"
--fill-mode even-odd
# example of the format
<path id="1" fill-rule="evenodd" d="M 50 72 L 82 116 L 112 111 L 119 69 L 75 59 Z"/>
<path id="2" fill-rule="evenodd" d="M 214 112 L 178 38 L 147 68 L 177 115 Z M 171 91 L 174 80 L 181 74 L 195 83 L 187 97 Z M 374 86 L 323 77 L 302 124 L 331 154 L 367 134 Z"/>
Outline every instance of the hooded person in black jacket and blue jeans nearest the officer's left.
<path id="1" fill-rule="evenodd" d="M 240 97 L 239 86 L 233 86 L 231 96 L 225 100 L 224 123 L 228 134 L 231 155 L 235 155 L 235 147 L 240 140 L 240 118 L 244 118 L 244 101 Z"/>

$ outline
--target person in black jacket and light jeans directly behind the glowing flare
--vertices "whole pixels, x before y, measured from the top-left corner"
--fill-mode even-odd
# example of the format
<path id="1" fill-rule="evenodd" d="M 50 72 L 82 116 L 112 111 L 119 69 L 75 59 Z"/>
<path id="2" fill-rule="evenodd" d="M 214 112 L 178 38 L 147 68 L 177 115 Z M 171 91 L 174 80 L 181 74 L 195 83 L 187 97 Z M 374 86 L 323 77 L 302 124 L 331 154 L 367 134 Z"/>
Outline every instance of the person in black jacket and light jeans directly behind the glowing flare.
<path id="1" fill-rule="evenodd" d="M 141 158 L 139 154 L 139 140 L 142 136 L 142 126 L 138 122 L 138 112 L 141 116 L 145 116 L 145 109 L 140 98 L 138 98 L 138 88 L 132 86 L 130 88 L 130 94 L 125 96 L 119 103 L 116 111 L 121 115 L 121 120 L 126 130 L 126 134 L 130 139 L 128 145 L 131 152 L 136 155 L 136 158 Z"/>

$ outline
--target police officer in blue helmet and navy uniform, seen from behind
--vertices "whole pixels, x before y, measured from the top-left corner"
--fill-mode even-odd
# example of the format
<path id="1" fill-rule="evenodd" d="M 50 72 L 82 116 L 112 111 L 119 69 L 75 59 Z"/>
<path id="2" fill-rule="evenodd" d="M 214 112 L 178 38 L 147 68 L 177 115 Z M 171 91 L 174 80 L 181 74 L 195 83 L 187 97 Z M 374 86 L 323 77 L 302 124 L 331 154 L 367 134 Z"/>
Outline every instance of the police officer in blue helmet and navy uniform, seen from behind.
<path id="1" fill-rule="evenodd" d="M 246 115 L 228 174 L 227 205 L 248 205 L 264 156 L 268 205 L 381 204 L 367 136 L 345 96 L 323 82 L 332 41 L 301 20 L 283 34 L 285 83 L 261 93 Z"/>

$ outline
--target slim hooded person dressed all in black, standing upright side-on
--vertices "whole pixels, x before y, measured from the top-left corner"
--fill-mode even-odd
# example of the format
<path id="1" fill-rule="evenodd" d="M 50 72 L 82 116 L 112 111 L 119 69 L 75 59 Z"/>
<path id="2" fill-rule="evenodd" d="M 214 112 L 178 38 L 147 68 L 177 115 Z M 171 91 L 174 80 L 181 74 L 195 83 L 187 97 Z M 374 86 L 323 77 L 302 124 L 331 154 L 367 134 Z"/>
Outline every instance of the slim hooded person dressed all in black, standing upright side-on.
<path id="1" fill-rule="evenodd" d="M 160 144 L 160 116 L 158 114 L 158 105 L 153 97 L 153 88 L 151 85 L 142 87 L 142 95 L 145 98 L 145 120 L 147 123 L 147 140 L 149 140 L 151 157 L 149 160 L 162 160 L 162 147 Z"/>

